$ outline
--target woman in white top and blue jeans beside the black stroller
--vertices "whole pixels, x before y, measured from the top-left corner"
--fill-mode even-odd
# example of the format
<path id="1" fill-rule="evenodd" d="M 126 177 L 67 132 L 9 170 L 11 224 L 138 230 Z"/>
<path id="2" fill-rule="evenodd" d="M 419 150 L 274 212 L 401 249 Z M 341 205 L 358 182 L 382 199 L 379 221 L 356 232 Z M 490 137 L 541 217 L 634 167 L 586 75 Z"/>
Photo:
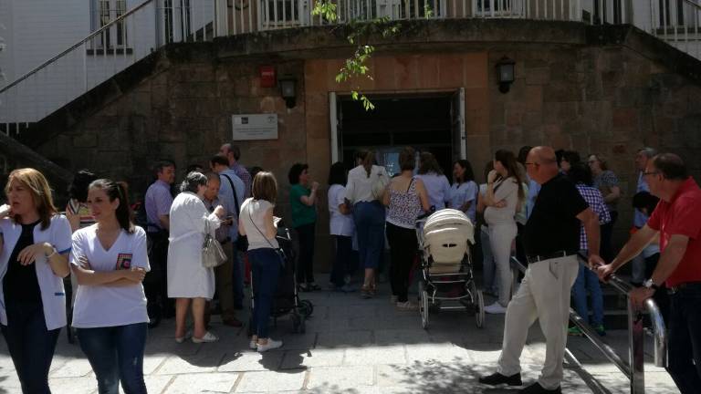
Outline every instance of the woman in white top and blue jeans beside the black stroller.
<path id="1" fill-rule="evenodd" d="M 277 181 L 271 172 L 256 174 L 251 189 L 253 197 L 241 205 L 238 232 L 248 236 L 248 258 L 251 261 L 253 286 L 253 312 L 251 319 L 250 347 L 265 352 L 282 346 L 282 341 L 267 336 L 267 324 L 273 295 L 280 275 L 282 256 L 277 253 L 279 245 L 277 218 L 273 209 L 277 200 Z"/>

